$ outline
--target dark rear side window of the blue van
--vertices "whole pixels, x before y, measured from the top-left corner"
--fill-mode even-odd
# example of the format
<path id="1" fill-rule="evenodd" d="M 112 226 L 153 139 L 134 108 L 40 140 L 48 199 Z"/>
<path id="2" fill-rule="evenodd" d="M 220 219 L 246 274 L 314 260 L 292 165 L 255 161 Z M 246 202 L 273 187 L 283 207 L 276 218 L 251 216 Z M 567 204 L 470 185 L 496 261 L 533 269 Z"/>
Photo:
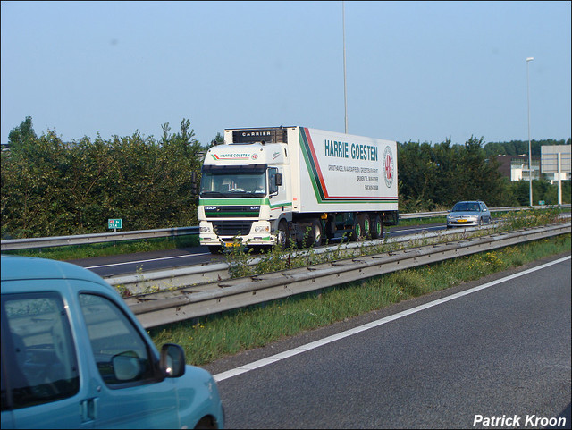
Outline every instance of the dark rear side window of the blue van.
<path id="1" fill-rule="evenodd" d="M 3 410 L 61 400 L 79 391 L 75 345 L 59 294 L 3 294 L 2 346 Z"/>

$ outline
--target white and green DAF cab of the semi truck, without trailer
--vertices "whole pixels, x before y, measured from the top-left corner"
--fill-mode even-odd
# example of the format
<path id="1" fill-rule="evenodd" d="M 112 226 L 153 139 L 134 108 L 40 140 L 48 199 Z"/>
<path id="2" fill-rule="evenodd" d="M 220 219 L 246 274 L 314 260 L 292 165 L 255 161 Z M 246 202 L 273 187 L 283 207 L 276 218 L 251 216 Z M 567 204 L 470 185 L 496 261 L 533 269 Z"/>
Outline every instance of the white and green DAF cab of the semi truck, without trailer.
<path id="1" fill-rule="evenodd" d="M 232 136 L 227 131 L 225 143 L 230 143 L 207 151 L 198 220 L 200 243 L 212 252 L 237 245 L 270 247 L 285 240 L 279 225 L 284 229 L 291 221 L 290 159 L 276 134 Z M 273 234 L 277 231 L 282 234 Z"/>

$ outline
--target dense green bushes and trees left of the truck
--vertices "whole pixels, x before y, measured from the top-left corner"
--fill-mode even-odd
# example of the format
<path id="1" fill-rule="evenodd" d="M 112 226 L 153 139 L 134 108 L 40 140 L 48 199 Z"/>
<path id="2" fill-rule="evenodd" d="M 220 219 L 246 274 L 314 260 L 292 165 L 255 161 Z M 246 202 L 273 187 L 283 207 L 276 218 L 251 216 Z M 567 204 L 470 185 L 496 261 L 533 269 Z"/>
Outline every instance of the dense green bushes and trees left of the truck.
<path id="1" fill-rule="evenodd" d="M 201 147 L 190 121 L 161 139 L 84 137 L 63 142 L 55 131 L 37 136 L 31 118 L 8 137 L 2 153 L 2 238 L 105 232 L 197 224 Z"/>

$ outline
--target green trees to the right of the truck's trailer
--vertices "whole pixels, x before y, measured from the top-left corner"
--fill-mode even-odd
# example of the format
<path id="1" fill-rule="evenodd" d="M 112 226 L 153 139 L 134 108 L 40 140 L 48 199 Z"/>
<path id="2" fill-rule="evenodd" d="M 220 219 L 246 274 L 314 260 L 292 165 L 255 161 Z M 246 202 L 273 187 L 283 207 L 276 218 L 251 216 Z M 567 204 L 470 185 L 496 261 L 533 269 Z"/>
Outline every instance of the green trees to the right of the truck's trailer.
<path id="1" fill-rule="evenodd" d="M 533 142 L 533 156 L 541 153 L 541 145 L 569 145 L 570 139 L 545 139 Z M 526 145 L 526 151 L 524 151 Z M 471 137 L 464 145 L 442 143 L 399 143 L 398 179 L 400 212 L 445 210 L 458 200 L 483 200 L 489 207 L 528 206 L 528 181 L 510 181 L 499 172 L 496 155 L 528 152 L 528 142 L 487 143 Z M 570 203 L 570 181 L 562 187 L 563 203 Z M 558 203 L 558 186 L 550 181 L 533 181 L 534 204 Z"/>

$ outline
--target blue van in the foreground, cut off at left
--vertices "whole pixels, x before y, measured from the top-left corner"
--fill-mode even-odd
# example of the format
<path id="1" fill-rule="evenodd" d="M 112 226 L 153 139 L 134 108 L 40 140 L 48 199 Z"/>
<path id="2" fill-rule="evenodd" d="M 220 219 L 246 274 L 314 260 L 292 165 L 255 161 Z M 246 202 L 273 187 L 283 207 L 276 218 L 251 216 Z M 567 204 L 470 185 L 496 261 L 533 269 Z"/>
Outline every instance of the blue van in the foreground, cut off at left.
<path id="1" fill-rule="evenodd" d="M 222 428 L 212 375 L 161 352 L 80 266 L 1 257 L 2 428 Z"/>

